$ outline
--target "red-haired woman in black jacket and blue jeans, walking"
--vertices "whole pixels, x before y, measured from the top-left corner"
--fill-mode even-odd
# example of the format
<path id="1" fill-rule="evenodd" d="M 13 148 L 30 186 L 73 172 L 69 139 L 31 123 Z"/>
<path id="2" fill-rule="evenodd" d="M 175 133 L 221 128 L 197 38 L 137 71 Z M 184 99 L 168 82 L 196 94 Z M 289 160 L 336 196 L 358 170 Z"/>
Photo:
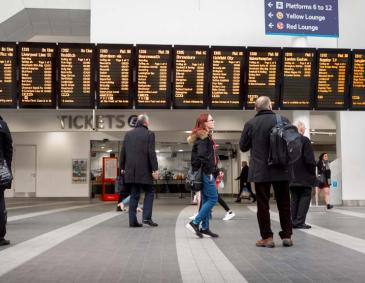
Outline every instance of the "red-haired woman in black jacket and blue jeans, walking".
<path id="1" fill-rule="evenodd" d="M 209 114 L 202 113 L 196 120 L 195 127 L 188 138 L 188 142 L 193 144 L 191 166 L 194 171 L 199 168 L 202 170 L 202 207 L 195 219 L 186 225 L 186 228 L 200 238 L 203 237 L 203 234 L 210 237 L 218 237 L 217 234 L 211 232 L 209 229 L 209 218 L 212 213 L 212 208 L 218 201 L 214 178 L 214 174 L 217 171 L 218 157 L 216 144 L 212 138 L 213 129 L 213 117 Z M 201 229 L 199 228 L 200 224 Z"/>

